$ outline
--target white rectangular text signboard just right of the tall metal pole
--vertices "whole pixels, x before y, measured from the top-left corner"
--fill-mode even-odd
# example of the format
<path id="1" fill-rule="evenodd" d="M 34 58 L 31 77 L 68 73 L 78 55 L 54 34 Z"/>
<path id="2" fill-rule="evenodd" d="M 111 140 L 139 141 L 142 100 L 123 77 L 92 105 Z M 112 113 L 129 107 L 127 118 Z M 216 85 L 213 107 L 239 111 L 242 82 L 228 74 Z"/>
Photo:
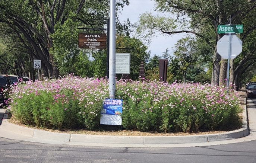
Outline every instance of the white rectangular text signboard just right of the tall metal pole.
<path id="1" fill-rule="evenodd" d="M 116 74 L 130 74 L 129 53 L 116 53 Z"/>

